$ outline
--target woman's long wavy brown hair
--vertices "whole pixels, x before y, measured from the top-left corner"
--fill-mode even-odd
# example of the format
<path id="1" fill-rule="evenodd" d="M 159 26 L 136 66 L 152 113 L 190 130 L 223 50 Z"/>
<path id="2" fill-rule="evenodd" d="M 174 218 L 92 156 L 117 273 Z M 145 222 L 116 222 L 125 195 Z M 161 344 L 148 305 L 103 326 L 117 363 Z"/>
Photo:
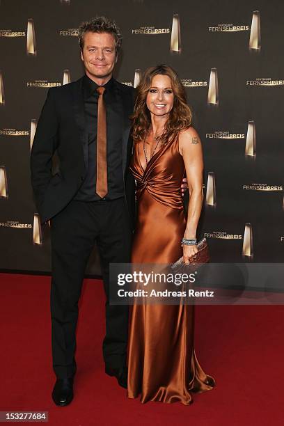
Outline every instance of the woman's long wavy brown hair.
<path id="1" fill-rule="evenodd" d="M 192 113 L 187 105 L 187 95 L 184 86 L 182 86 L 175 70 L 168 65 L 157 65 L 145 70 L 140 84 L 137 87 L 134 113 L 131 116 L 133 120 L 132 137 L 134 141 L 144 141 L 150 131 L 151 116 L 146 105 L 146 97 L 152 84 L 152 78 L 158 74 L 170 77 L 174 95 L 173 109 L 166 121 L 164 133 L 159 136 L 160 143 L 164 145 L 175 138 L 180 130 L 187 129 L 192 123 Z"/>

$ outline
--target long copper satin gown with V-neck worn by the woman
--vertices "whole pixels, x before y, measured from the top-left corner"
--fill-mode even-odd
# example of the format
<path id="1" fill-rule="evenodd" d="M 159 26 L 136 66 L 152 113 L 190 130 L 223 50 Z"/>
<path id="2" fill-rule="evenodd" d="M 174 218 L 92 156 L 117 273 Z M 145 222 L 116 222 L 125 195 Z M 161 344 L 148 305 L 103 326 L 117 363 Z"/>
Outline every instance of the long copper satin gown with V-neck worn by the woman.
<path id="1" fill-rule="evenodd" d="M 145 171 L 135 143 L 130 168 L 138 203 L 132 263 L 172 263 L 182 256 L 186 227 L 178 137 L 153 155 Z M 128 397 L 188 405 L 191 392 L 212 389 L 215 381 L 202 370 L 194 351 L 193 305 L 134 303 L 130 313 Z"/>

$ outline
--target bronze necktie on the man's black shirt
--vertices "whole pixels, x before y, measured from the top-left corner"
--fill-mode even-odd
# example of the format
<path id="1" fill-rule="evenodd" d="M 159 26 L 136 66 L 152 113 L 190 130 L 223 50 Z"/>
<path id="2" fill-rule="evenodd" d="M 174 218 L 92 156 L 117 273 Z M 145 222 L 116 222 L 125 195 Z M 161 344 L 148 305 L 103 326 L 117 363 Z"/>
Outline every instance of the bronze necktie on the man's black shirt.
<path id="1" fill-rule="evenodd" d="M 97 184 L 95 191 L 101 198 L 107 195 L 107 113 L 104 106 L 104 87 L 98 87 L 97 102 Z"/>

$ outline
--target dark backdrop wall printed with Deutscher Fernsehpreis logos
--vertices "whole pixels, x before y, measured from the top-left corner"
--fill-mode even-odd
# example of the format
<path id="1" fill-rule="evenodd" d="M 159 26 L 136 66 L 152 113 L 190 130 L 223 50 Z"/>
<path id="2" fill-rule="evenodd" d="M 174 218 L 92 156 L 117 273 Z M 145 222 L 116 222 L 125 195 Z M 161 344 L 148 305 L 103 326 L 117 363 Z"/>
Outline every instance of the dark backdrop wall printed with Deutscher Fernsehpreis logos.
<path id="1" fill-rule="evenodd" d="M 214 262 L 283 262 L 284 3 L 267 0 L 1 0 L 0 269 L 50 271 L 29 155 L 49 87 L 81 77 L 82 21 L 123 33 L 116 79 L 178 71 L 203 141 L 200 236 Z M 100 274 L 97 252 L 88 274 Z"/>

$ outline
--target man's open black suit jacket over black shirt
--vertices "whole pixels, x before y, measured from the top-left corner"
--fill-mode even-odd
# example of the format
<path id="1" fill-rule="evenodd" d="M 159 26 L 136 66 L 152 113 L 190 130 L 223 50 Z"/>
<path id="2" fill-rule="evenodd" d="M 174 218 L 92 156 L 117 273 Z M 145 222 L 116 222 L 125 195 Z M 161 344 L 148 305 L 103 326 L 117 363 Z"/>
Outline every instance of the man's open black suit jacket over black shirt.
<path id="1" fill-rule="evenodd" d="M 88 135 L 84 115 L 83 78 L 50 88 L 42 108 L 31 150 L 31 184 L 42 223 L 68 205 L 86 176 Z M 129 171 L 132 138 L 129 134 L 135 90 L 114 80 L 123 111 L 123 175 L 129 221 L 134 228 L 134 178 Z M 52 157 L 57 151 L 58 173 L 52 173 Z"/>

